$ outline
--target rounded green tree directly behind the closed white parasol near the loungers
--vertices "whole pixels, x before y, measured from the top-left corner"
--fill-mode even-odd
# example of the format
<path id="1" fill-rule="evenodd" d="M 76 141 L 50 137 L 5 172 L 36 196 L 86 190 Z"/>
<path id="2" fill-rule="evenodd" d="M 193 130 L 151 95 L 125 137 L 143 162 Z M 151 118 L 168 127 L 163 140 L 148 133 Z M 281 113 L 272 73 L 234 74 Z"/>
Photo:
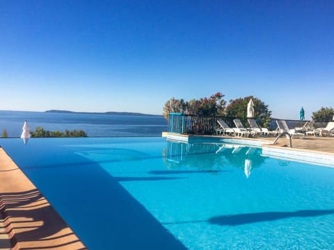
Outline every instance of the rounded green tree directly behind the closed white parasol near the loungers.
<path id="1" fill-rule="evenodd" d="M 247 104 L 250 99 L 253 99 L 255 119 L 260 126 L 268 127 L 271 120 L 271 111 L 260 99 L 253 96 L 230 100 L 226 107 L 226 115 L 230 117 L 239 117 L 241 121 L 246 122 L 247 119 Z"/>

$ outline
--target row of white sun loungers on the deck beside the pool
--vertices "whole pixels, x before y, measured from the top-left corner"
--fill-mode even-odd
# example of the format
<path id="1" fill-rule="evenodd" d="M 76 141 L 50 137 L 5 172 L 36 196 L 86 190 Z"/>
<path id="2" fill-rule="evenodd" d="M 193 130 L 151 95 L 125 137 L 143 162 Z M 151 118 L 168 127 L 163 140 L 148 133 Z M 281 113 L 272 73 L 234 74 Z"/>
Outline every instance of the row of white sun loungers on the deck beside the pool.
<path id="1" fill-rule="evenodd" d="M 261 128 L 257 125 L 255 119 L 248 119 L 248 124 L 250 128 L 245 128 L 244 124 L 241 123 L 240 119 L 234 119 L 235 128 L 231 128 L 226 124 L 223 119 L 217 121 L 219 128 L 216 128 L 217 135 L 234 135 L 238 137 L 256 137 L 256 136 L 279 136 L 288 134 L 291 138 L 305 137 L 305 135 L 314 136 L 334 136 L 334 122 L 328 122 L 327 126 L 324 128 L 315 128 L 314 121 L 305 122 L 303 127 L 296 127 L 290 129 L 287 126 L 285 120 L 277 120 L 276 124 L 278 128 L 276 131 L 269 131 L 268 128 Z"/>

